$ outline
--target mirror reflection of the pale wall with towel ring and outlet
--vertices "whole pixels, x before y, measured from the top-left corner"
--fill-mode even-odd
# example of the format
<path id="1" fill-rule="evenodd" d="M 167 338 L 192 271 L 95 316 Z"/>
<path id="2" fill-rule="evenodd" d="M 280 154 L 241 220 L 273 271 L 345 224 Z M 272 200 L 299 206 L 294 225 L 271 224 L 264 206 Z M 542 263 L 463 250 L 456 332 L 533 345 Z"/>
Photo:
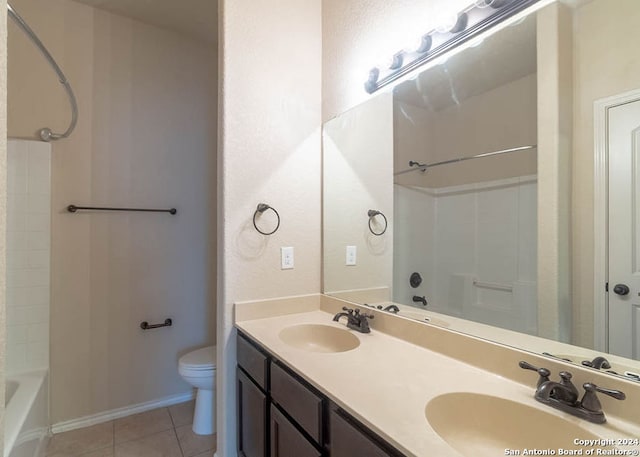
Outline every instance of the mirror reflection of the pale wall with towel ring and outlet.
<path id="1" fill-rule="evenodd" d="M 322 135 L 323 290 L 389 287 L 393 279 L 393 96 L 383 93 L 327 122 Z M 369 230 L 370 209 L 387 229 Z M 379 225 L 378 225 L 379 224 Z M 384 229 L 381 216 L 371 225 Z M 356 246 L 357 264 L 345 265 Z M 389 300 L 391 297 L 386 297 Z"/>

